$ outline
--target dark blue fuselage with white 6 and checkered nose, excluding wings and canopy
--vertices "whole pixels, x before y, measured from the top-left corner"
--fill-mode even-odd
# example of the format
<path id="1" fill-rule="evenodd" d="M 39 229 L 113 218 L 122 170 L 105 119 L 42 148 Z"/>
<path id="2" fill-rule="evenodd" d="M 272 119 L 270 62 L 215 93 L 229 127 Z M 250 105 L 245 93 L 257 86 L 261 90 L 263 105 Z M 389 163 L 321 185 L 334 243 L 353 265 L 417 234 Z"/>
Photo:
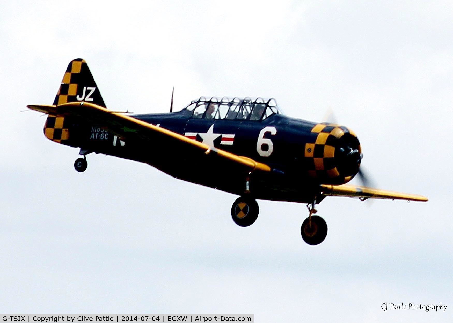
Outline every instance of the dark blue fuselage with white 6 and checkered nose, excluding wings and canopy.
<path id="1" fill-rule="evenodd" d="M 188 109 L 165 114 L 131 115 L 209 146 L 269 165 L 269 173 L 250 174 L 250 191 L 256 199 L 308 203 L 320 184 L 343 184 L 357 174 L 360 145 L 346 127 L 270 114 L 259 120 L 194 117 Z M 103 153 L 147 163 L 181 180 L 241 195 L 244 176 L 222 165 L 204 165 L 179 147 L 131 142 L 109 132 L 102 124 L 65 120 L 69 136 L 63 144 L 85 152 Z M 127 131 L 127 130 L 126 130 Z M 46 130 L 44 131 L 46 133 Z M 318 198 L 319 199 L 319 198 Z M 319 202 L 318 202 L 319 203 Z"/>

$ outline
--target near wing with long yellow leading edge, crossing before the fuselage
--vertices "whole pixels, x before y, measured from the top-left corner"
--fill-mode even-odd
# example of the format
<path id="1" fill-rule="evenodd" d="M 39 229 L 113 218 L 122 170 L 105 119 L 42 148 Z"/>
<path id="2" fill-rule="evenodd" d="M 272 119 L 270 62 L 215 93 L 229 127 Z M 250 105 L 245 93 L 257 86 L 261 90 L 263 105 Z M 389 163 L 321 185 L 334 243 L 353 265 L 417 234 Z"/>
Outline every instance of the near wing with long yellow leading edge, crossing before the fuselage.
<path id="1" fill-rule="evenodd" d="M 119 135 L 122 138 L 140 139 L 149 142 L 157 142 L 158 147 L 166 147 L 173 155 L 186 155 L 203 158 L 203 156 L 213 156 L 218 161 L 223 161 L 223 165 L 238 167 L 242 171 L 270 171 L 270 167 L 266 164 L 254 161 L 251 158 L 238 156 L 230 152 L 195 141 L 184 137 L 178 133 L 155 126 L 153 124 L 132 118 L 128 115 L 120 114 L 99 105 L 88 102 L 71 102 L 66 104 L 55 105 L 27 105 L 29 109 L 33 109 L 43 113 L 51 113 L 58 115 L 73 115 L 90 121 L 95 124 L 103 125 L 108 128 L 109 132 Z M 175 152 L 175 150 L 178 150 Z M 157 152 L 165 153 L 165 152 Z M 206 158 L 205 158 L 206 159 Z"/>

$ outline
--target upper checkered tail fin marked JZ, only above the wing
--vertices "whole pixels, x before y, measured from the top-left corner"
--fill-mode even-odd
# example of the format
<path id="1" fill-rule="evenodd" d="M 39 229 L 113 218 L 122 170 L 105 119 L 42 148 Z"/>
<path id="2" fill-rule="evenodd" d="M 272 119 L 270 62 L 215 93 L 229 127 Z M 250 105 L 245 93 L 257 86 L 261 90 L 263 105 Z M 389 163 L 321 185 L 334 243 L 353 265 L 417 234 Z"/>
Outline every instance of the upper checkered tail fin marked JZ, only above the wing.
<path id="1" fill-rule="evenodd" d="M 87 101 L 106 107 L 87 62 L 76 58 L 69 63 L 53 105 Z"/>

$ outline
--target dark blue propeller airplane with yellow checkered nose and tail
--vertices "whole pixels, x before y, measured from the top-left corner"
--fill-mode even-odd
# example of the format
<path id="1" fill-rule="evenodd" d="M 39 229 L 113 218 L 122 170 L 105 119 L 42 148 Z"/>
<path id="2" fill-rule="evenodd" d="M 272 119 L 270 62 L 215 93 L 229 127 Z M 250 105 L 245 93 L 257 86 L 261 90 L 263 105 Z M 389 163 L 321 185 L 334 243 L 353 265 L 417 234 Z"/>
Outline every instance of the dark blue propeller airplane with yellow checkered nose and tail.
<path id="1" fill-rule="evenodd" d="M 361 200 L 427 201 L 421 195 L 346 184 L 362 176 L 363 157 L 356 134 L 334 123 L 314 123 L 282 114 L 274 99 L 193 100 L 169 113 L 130 114 L 106 108 L 81 58 L 67 66 L 52 105 L 28 105 L 48 114 L 44 135 L 80 148 L 76 171 L 87 155 L 102 153 L 140 161 L 170 176 L 229 192 L 233 221 L 247 227 L 259 213 L 257 199 L 307 204 L 301 235 L 309 245 L 327 236 L 327 224 L 314 215 L 327 196 Z"/>

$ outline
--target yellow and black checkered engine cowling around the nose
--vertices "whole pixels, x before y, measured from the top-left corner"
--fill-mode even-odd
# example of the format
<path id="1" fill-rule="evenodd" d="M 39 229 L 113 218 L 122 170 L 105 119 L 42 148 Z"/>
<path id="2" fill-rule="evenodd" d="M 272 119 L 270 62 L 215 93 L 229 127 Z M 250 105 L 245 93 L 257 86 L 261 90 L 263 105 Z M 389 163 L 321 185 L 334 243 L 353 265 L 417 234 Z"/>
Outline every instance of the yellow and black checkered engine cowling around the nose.
<path id="1" fill-rule="evenodd" d="M 356 137 L 344 126 L 334 123 L 318 123 L 311 129 L 312 141 L 305 144 L 304 157 L 308 166 L 308 176 L 316 179 L 336 179 L 338 183 L 351 180 L 344 177 L 336 167 L 335 143 L 345 133 Z"/>

